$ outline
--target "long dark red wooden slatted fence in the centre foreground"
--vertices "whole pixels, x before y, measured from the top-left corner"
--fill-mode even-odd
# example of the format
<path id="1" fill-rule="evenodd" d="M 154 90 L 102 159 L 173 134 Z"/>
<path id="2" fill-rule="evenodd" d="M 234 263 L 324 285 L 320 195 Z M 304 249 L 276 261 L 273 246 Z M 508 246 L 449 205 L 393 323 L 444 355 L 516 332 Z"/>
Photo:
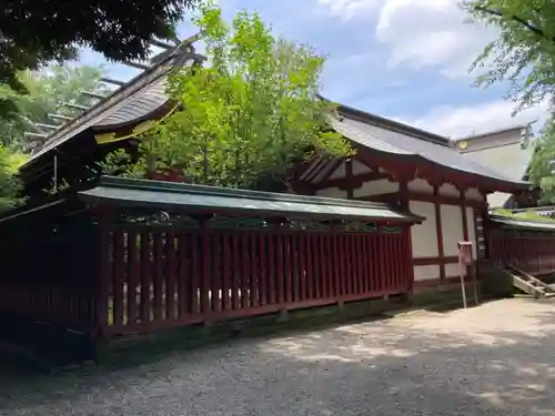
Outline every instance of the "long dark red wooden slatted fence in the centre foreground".
<path id="1" fill-rule="evenodd" d="M 406 293 L 407 233 L 105 231 L 108 334 Z"/>

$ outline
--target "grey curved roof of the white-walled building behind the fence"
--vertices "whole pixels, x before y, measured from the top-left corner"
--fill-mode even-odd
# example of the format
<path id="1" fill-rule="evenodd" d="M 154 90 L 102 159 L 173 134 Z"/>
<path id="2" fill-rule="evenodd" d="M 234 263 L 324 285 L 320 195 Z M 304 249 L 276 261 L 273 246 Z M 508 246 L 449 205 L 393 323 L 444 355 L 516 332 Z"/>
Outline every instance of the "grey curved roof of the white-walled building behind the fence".
<path id="1" fill-rule="evenodd" d="M 342 111 L 341 108 L 340 114 L 340 118 L 330 118 L 332 128 L 363 146 L 384 153 L 420 156 L 445 168 L 497 181 L 527 184 L 523 181 L 515 182 L 511 177 L 462 156 L 448 145 L 450 141 L 446 138 L 442 142 L 441 140 L 427 140 L 422 135 L 416 136 L 416 134 L 403 132 L 401 129 L 391 130 L 386 125 L 374 123 L 373 116 L 370 114 L 370 118 L 364 120 L 360 113 L 352 116 L 351 111 Z"/>

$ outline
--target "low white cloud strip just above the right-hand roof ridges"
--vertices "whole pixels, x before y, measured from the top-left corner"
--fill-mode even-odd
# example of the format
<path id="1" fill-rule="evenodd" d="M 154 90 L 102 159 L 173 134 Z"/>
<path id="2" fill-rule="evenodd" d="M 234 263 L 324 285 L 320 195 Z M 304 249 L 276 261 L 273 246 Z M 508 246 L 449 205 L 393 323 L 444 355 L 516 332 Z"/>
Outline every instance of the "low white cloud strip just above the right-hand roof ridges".
<path id="1" fill-rule="evenodd" d="M 504 100 L 472 106 L 446 105 L 436 108 L 420 119 L 403 118 L 403 122 L 454 139 L 525 124 L 535 120 L 537 120 L 537 123 L 534 126 L 538 129 L 544 124 L 548 115 L 549 101 L 546 99 L 512 118 L 511 114 L 514 109 L 515 103 Z"/>

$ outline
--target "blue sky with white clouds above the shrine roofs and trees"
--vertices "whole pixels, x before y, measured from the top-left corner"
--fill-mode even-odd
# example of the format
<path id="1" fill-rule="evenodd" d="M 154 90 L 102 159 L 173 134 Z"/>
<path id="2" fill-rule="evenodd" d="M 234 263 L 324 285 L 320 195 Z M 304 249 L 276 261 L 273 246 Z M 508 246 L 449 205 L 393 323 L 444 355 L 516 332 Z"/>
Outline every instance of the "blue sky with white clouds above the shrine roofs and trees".
<path id="1" fill-rule="evenodd" d="M 224 16 L 256 11 L 289 40 L 327 55 L 327 98 L 453 138 L 545 120 L 547 102 L 511 116 L 506 85 L 473 87 L 467 69 L 495 28 L 464 22 L 458 0 L 220 0 Z M 182 38 L 194 34 L 186 21 Z M 102 58 L 82 54 L 83 63 Z M 135 71 L 107 65 L 117 78 Z M 538 123 L 538 124 L 539 124 Z"/>

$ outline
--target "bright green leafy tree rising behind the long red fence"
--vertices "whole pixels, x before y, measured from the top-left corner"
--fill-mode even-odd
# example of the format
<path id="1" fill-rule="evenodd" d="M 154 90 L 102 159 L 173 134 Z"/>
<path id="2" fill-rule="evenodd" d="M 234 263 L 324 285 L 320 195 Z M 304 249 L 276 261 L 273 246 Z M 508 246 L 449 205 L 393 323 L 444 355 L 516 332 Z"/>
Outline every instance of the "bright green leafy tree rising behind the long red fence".
<path id="1" fill-rule="evenodd" d="M 195 183 L 268 189 L 311 152 L 351 152 L 326 126 L 323 57 L 274 38 L 258 14 L 240 12 L 229 26 L 209 3 L 193 21 L 208 61 L 171 78 L 181 106 L 142 142 L 144 169 L 178 166 Z"/>

